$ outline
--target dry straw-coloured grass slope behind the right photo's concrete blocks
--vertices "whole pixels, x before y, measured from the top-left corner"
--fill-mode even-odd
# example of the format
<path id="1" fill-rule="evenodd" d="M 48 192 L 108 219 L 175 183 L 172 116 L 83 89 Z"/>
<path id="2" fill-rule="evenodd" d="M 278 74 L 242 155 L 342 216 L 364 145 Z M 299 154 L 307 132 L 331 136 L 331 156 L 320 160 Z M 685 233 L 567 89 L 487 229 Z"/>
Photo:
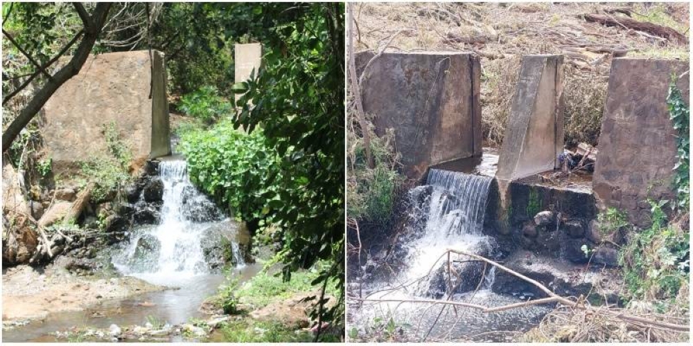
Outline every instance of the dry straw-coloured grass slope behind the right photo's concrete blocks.
<path id="1" fill-rule="evenodd" d="M 631 49 L 628 56 L 688 59 L 688 45 L 672 44 L 623 28 L 587 23 L 579 15 L 611 3 L 358 3 L 356 51 L 377 49 L 399 30 L 389 51 L 477 51 L 482 55 L 482 120 L 486 140 L 502 142 L 519 56 L 561 54 L 585 45 Z M 687 3 L 626 3 L 640 21 L 687 34 Z M 453 42 L 449 35 L 475 43 Z M 611 55 L 581 51 L 588 61 L 565 57 L 567 142 L 597 144 Z"/>

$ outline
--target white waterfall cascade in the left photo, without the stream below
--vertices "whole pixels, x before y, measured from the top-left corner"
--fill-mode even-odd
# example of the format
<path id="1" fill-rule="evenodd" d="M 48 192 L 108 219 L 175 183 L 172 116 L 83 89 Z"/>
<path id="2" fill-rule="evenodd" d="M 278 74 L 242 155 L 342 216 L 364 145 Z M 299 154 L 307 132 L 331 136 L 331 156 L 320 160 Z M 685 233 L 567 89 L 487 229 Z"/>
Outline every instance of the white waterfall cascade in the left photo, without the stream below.
<path id="1" fill-rule="evenodd" d="M 159 178 L 164 183 L 159 223 L 136 227 L 130 242 L 114 254 L 114 266 L 125 275 L 156 283 L 209 273 L 202 242 L 222 213 L 192 185 L 186 161 L 161 161 Z M 231 247 L 242 259 L 238 244 L 231 242 Z"/>

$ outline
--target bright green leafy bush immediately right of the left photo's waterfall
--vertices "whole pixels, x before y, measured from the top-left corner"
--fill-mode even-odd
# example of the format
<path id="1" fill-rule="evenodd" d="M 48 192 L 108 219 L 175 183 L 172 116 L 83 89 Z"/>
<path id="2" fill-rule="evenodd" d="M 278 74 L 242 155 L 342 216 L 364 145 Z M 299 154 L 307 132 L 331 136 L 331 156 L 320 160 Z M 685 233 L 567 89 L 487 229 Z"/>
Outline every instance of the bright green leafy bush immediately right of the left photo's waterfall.
<path id="1" fill-rule="evenodd" d="M 269 224 L 272 208 L 284 204 L 281 192 L 296 186 L 274 183 L 281 179 L 280 160 L 263 131 L 246 134 L 222 121 L 208 131 L 185 133 L 178 149 L 191 181 L 245 221 Z"/>

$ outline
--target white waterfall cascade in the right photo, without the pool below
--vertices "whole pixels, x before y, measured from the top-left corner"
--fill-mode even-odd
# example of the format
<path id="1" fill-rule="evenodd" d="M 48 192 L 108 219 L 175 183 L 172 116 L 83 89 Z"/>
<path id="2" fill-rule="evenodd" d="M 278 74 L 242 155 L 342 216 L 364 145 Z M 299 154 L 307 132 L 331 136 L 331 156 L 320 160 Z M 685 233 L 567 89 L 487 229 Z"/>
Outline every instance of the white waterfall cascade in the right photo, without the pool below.
<path id="1" fill-rule="evenodd" d="M 410 220 L 416 235 L 407 248 L 408 268 L 400 275 L 401 281 L 410 282 L 426 276 L 433 268 L 428 280 L 415 286 L 415 295 L 441 295 L 446 284 L 441 279 L 441 266 L 446 258 L 440 258 L 448 248 L 489 256 L 493 252 L 493 238 L 483 234 L 486 199 L 493 178 L 432 169 L 428 173 L 426 186 L 412 190 L 414 204 Z M 423 193 L 427 197 L 422 197 Z M 421 220 L 426 220 L 421 222 Z M 458 256 L 454 255 L 453 260 Z M 462 260 L 468 260 L 464 258 Z M 486 280 L 484 286 L 493 282 L 493 271 L 482 278 L 478 264 L 459 264 L 457 270 L 473 270 L 466 280 Z M 463 268 L 464 267 L 464 268 Z M 464 280 L 463 279 L 463 280 Z M 475 285 L 474 285 L 475 286 Z M 464 284 L 459 284 L 464 289 Z"/>

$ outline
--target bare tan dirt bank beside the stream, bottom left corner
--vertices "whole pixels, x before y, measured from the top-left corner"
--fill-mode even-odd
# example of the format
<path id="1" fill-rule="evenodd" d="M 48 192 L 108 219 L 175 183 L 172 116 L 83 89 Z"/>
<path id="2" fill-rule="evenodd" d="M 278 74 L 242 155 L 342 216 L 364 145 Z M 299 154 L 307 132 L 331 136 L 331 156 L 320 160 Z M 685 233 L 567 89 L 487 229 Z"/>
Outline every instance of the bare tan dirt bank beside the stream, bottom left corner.
<path id="1" fill-rule="evenodd" d="M 58 311 L 79 311 L 100 300 L 164 289 L 135 277 L 82 277 L 49 266 L 9 268 L 2 277 L 3 324 L 35 320 Z"/>

